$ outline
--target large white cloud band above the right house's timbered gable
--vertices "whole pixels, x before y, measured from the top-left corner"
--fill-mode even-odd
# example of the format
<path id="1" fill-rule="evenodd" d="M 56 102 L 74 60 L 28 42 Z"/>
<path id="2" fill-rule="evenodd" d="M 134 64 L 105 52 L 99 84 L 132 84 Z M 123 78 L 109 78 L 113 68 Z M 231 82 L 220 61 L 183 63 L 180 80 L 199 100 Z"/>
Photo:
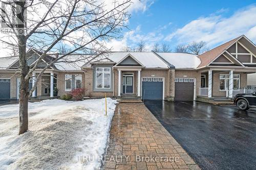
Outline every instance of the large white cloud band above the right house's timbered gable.
<path id="1" fill-rule="evenodd" d="M 230 17 L 215 14 L 199 17 L 190 21 L 184 27 L 166 36 L 166 41 L 187 44 L 191 41 L 206 41 L 208 45 L 216 45 L 242 34 L 256 41 L 256 6 L 248 6 L 233 13 Z"/>

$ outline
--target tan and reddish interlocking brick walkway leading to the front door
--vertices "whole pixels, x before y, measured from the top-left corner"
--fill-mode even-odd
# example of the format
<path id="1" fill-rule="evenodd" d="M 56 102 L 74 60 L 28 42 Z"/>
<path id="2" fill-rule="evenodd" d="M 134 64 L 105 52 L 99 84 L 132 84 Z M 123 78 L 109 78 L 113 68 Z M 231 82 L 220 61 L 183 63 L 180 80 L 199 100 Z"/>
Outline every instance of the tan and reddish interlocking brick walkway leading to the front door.
<path id="1" fill-rule="evenodd" d="M 104 169 L 200 168 L 144 104 L 120 103 L 113 117 Z"/>

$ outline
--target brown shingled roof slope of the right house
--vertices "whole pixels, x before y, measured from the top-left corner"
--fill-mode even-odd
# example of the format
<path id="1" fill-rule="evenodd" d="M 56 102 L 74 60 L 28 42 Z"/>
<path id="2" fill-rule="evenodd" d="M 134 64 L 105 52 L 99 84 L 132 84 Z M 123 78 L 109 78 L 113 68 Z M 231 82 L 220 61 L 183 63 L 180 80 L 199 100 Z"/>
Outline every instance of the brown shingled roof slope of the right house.
<path id="1" fill-rule="evenodd" d="M 215 48 L 213 48 L 212 50 L 205 52 L 201 55 L 199 55 L 198 57 L 201 60 L 201 64 L 198 66 L 198 68 L 200 67 L 204 67 L 206 65 L 208 65 L 212 60 L 215 60 L 218 56 L 220 56 L 229 46 L 231 46 L 234 42 L 236 42 L 237 40 L 239 40 L 242 36 L 234 38 L 220 46 L 217 46 Z"/>

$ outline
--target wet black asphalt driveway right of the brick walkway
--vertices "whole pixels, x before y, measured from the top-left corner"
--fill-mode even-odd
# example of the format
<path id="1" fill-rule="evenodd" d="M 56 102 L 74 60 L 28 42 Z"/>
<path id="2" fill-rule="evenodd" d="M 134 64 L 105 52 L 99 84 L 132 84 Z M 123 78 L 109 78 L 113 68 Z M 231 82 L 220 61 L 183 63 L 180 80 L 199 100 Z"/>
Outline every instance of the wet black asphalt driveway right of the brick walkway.
<path id="1" fill-rule="evenodd" d="M 255 168 L 255 109 L 192 101 L 144 104 L 202 169 Z"/>

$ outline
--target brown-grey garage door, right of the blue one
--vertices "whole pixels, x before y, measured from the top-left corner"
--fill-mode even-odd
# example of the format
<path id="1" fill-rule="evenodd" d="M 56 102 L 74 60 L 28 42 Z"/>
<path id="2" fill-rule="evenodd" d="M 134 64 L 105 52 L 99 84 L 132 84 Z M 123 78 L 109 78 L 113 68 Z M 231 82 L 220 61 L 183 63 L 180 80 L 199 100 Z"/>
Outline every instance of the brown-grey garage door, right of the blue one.
<path id="1" fill-rule="evenodd" d="M 176 78 L 175 79 L 175 98 L 176 101 L 194 100 L 194 79 Z"/>

